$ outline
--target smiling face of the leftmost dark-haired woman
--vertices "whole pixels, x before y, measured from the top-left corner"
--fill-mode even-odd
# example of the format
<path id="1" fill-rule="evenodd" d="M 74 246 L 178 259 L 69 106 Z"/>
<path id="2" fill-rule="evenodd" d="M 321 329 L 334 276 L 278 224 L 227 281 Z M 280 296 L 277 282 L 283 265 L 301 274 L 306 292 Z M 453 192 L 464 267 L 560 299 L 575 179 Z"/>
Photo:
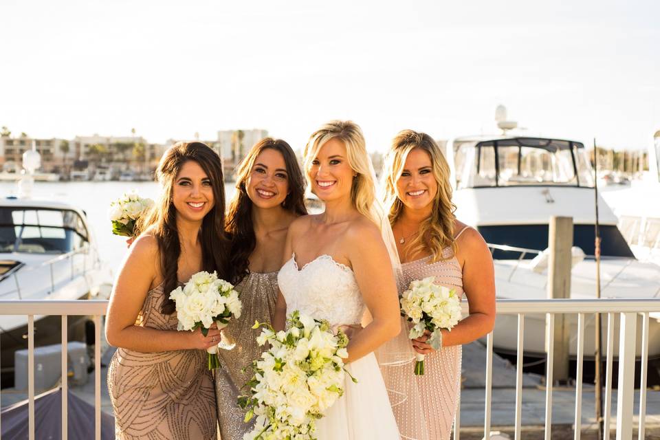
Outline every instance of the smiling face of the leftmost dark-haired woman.
<path id="1" fill-rule="evenodd" d="M 177 218 L 201 221 L 215 203 L 211 181 L 194 160 L 188 160 L 174 179 L 172 201 Z"/>

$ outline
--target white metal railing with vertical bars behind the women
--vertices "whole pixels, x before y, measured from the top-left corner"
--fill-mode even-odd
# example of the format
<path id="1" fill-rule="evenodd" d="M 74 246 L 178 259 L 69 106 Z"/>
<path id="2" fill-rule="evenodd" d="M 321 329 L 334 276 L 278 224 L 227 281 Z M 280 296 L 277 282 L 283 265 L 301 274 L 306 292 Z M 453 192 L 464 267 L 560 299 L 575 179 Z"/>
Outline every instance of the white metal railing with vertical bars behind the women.
<path id="1" fill-rule="evenodd" d="M 96 327 L 94 354 L 94 393 L 95 393 L 95 439 L 100 440 L 101 435 L 101 369 L 100 369 L 100 342 L 102 316 L 106 313 L 106 300 L 0 300 L 0 316 L 27 315 L 28 316 L 28 413 L 29 439 L 34 440 L 34 316 L 50 315 L 61 316 L 62 340 L 67 340 L 68 316 L 94 316 Z M 649 314 L 660 312 L 660 298 L 657 299 L 602 299 L 602 300 L 498 300 L 497 314 L 518 316 L 518 355 L 516 364 L 516 408 L 515 408 L 515 438 L 520 439 L 522 426 L 522 349 L 524 347 L 525 315 L 538 314 L 539 311 L 547 314 L 549 335 L 553 335 L 555 315 L 577 314 L 577 371 L 575 386 L 575 434 L 580 439 L 580 424 L 582 410 L 582 360 L 584 357 L 584 327 L 585 315 L 602 313 L 607 314 L 606 325 L 606 377 L 604 401 L 604 438 L 610 438 L 611 401 L 612 401 L 612 365 L 614 357 L 614 327 L 615 314 L 620 315 L 619 322 L 619 385 L 617 395 L 617 429 L 616 439 L 632 438 L 632 413 L 635 391 L 635 347 L 637 316 L 641 316 L 641 380 L 639 383 L 639 422 L 638 439 L 644 438 L 644 417 L 646 415 L 646 374 L 648 364 L 648 329 Z M 463 314 L 467 316 L 467 303 L 463 303 Z M 549 338 L 547 365 L 553 365 L 553 338 Z M 491 406 L 492 406 L 492 359 L 493 359 L 493 333 L 487 336 L 486 344 L 486 382 L 485 382 L 485 418 L 483 432 L 486 439 L 490 437 Z M 67 344 L 62 344 L 62 439 L 67 439 Z M 547 369 L 546 375 L 546 408 L 545 408 L 545 439 L 551 438 L 552 429 L 552 369 Z M 1 396 L 1 394 L 0 394 Z M 1 419 L 0 419 L 1 423 Z M 460 439 L 460 411 L 454 421 L 454 440 Z M 0 425 L 1 426 L 1 425 Z"/>

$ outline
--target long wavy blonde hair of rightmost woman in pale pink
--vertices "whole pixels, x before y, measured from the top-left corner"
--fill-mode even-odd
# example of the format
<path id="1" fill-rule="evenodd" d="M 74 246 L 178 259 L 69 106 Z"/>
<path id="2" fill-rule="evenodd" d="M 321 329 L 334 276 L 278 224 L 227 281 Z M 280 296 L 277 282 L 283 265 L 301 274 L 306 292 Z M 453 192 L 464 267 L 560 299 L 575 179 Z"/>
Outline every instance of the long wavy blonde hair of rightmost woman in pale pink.
<path id="1" fill-rule="evenodd" d="M 433 177 L 438 184 L 438 191 L 433 199 L 433 208 L 428 219 L 422 221 L 419 234 L 406 245 L 406 255 L 417 254 L 424 249 L 430 250 L 431 261 L 443 260 L 443 249 L 452 248 L 454 242 L 454 220 L 456 206 L 452 203 L 452 186 L 449 181 L 450 170 L 447 159 L 432 137 L 426 133 L 403 130 L 392 140 L 392 146 L 384 161 L 384 186 L 386 206 L 389 207 L 390 224 L 394 225 L 404 211 L 404 203 L 397 197 L 397 181 L 404 171 L 408 153 L 415 148 L 425 151 L 430 159 Z"/>

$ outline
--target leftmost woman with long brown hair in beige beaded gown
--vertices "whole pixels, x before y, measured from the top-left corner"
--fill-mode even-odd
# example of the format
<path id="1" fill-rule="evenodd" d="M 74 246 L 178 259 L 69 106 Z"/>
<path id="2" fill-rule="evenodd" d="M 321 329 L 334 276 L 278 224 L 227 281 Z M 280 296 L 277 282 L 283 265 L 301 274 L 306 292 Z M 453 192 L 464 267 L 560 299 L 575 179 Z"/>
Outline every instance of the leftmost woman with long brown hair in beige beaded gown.
<path id="1" fill-rule="evenodd" d="M 162 196 L 131 245 L 107 315 L 107 340 L 119 347 L 108 369 L 115 435 L 215 440 L 205 350 L 220 332 L 177 331 L 168 296 L 192 274 L 227 266 L 222 165 L 205 144 L 179 142 L 163 155 L 156 175 Z"/>

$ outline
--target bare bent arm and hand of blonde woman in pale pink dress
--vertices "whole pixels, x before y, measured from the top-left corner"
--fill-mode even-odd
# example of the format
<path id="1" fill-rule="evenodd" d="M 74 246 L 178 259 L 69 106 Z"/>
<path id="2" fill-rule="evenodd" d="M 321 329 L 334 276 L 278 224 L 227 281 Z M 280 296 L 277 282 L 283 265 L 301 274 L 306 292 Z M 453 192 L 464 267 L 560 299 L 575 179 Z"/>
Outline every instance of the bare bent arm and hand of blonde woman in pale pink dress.
<path id="1" fill-rule="evenodd" d="M 493 259 L 481 234 L 470 228 L 461 234 L 456 255 L 463 263 L 463 289 L 470 307 L 470 315 L 452 331 L 442 330 L 442 346 L 469 344 L 487 335 L 495 325 L 495 270 Z M 428 336 L 412 342 L 422 354 L 434 351 L 426 344 Z"/>

